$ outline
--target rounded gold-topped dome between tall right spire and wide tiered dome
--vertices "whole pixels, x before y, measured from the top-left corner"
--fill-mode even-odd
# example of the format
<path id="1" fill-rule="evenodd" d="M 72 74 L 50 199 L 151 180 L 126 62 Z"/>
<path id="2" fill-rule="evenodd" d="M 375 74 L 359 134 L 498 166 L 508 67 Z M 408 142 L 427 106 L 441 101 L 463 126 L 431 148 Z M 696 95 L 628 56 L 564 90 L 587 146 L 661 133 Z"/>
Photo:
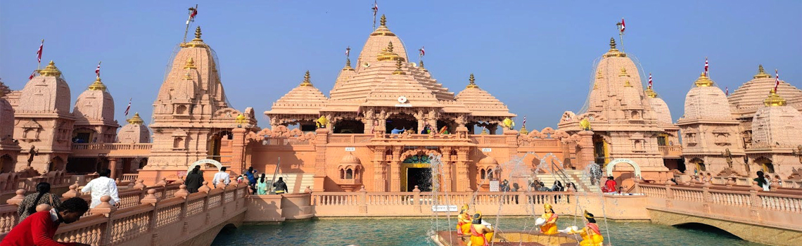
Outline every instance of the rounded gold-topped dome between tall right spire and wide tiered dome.
<path id="1" fill-rule="evenodd" d="M 685 115 L 679 120 L 694 119 L 732 119 L 730 103 L 724 91 L 704 74 L 696 79 L 693 87 L 685 95 Z"/>

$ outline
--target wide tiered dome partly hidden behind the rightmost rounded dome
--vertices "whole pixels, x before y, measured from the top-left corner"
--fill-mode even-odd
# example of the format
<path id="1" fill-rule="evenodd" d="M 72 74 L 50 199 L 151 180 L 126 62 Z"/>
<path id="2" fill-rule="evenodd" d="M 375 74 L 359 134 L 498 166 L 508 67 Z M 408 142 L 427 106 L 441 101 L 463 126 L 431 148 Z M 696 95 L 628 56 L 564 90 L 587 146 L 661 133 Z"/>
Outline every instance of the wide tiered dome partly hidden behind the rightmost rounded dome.
<path id="1" fill-rule="evenodd" d="M 766 91 L 774 89 L 775 79 L 768 75 L 763 65 L 758 67 L 758 73 L 752 79 L 735 89 L 728 97 L 733 113 L 740 116 L 751 116 L 764 107 Z M 802 90 L 780 80 L 777 86 L 777 95 L 788 100 L 788 104 L 802 111 Z"/>

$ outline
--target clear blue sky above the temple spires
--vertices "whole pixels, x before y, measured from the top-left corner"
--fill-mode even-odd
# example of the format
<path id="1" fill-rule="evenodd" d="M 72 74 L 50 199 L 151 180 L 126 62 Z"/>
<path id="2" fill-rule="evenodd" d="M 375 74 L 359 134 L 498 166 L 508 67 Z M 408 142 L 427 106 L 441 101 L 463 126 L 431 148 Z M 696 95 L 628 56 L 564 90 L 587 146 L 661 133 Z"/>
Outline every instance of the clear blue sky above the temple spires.
<path id="1" fill-rule="evenodd" d="M 73 103 L 95 79 L 115 98 L 116 119 L 132 111 L 150 118 L 187 8 L 217 51 L 233 107 L 257 114 L 296 87 L 309 70 L 326 95 L 351 46 L 355 60 L 371 33 L 373 1 L 2 1 L 0 78 L 21 90 L 36 68 L 55 60 Z M 563 111 L 579 111 L 593 60 L 618 39 L 626 18 L 626 52 L 654 76 L 674 121 L 710 59 L 711 79 L 735 91 L 758 64 L 802 87 L 802 1 L 379 1 L 379 15 L 407 50 L 426 46 L 431 74 L 458 93 L 476 83 L 528 116 L 529 129 L 556 127 Z M 190 30 L 190 33 L 192 31 Z M 413 61 L 417 56 L 411 51 Z M 648 75 L 641 75 L 646 83 Z M 133 114 L 133 113 L 132 113 Z M 130 115 L 129 115 L 130 116 Z M 265 127 L 265 116 L 257 117 Z"/>

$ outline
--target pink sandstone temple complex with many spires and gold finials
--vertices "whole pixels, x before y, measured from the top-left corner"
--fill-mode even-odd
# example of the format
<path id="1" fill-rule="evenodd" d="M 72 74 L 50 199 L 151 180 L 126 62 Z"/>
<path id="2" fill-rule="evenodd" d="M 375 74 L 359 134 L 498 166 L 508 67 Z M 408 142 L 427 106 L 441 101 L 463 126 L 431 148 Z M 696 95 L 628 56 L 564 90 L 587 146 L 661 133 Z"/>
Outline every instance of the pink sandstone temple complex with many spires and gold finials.
<path id="1" fill-rule="evenodd" d="M 100 78 L 79 86 L 71 109 L 71 87 L 52 61 L 18 91 L 0 83 L 2 182 L 110 168 L 115 178 L 149 185 L 197 164 L 208 179 L 224 166 L 232 175 L 277 171 L 290 192 L 411 192 L 433 179 L 444 191 L 487 191 L 494 179 L 524 186 L 555 171 L 596 191 L 583 172 L 591 166 L 624 184 L 706 173 L 747 182 L 760 170 L 802 181 L 802 91 L 784 81 L 775 91 L 762 66 L 728 96 L 701 75 L 685 82 L 693 87 L 674 122 L 613 39 L 585 107 L 555 115 L 557 129 L 540 131 L 516 129 L 516 115 L 480 76 L 466 73 L 460 91 L 438 83 L 422 61 L 410 62 L 384 16 L 328 95 L 307 71 L 264 112 L 265 128 L 253 108 L 229 107 L 201 27 L 168 67 L 150 125 L 136 114 L 120 127 Z M 435 175 L 431 156 L 442 162 Z"/>

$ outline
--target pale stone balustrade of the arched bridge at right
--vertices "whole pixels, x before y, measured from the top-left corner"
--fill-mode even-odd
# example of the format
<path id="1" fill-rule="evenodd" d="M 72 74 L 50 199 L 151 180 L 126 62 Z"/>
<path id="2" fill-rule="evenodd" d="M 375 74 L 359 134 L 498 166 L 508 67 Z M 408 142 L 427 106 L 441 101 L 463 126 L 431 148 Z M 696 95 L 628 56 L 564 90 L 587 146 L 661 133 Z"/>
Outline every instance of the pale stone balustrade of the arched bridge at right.
<path id="1" fill-rule="evenodd" d="M 638 183 L 647 207 L 691 216 L 802 231 L 802 191 L 747 186 Z"/>

